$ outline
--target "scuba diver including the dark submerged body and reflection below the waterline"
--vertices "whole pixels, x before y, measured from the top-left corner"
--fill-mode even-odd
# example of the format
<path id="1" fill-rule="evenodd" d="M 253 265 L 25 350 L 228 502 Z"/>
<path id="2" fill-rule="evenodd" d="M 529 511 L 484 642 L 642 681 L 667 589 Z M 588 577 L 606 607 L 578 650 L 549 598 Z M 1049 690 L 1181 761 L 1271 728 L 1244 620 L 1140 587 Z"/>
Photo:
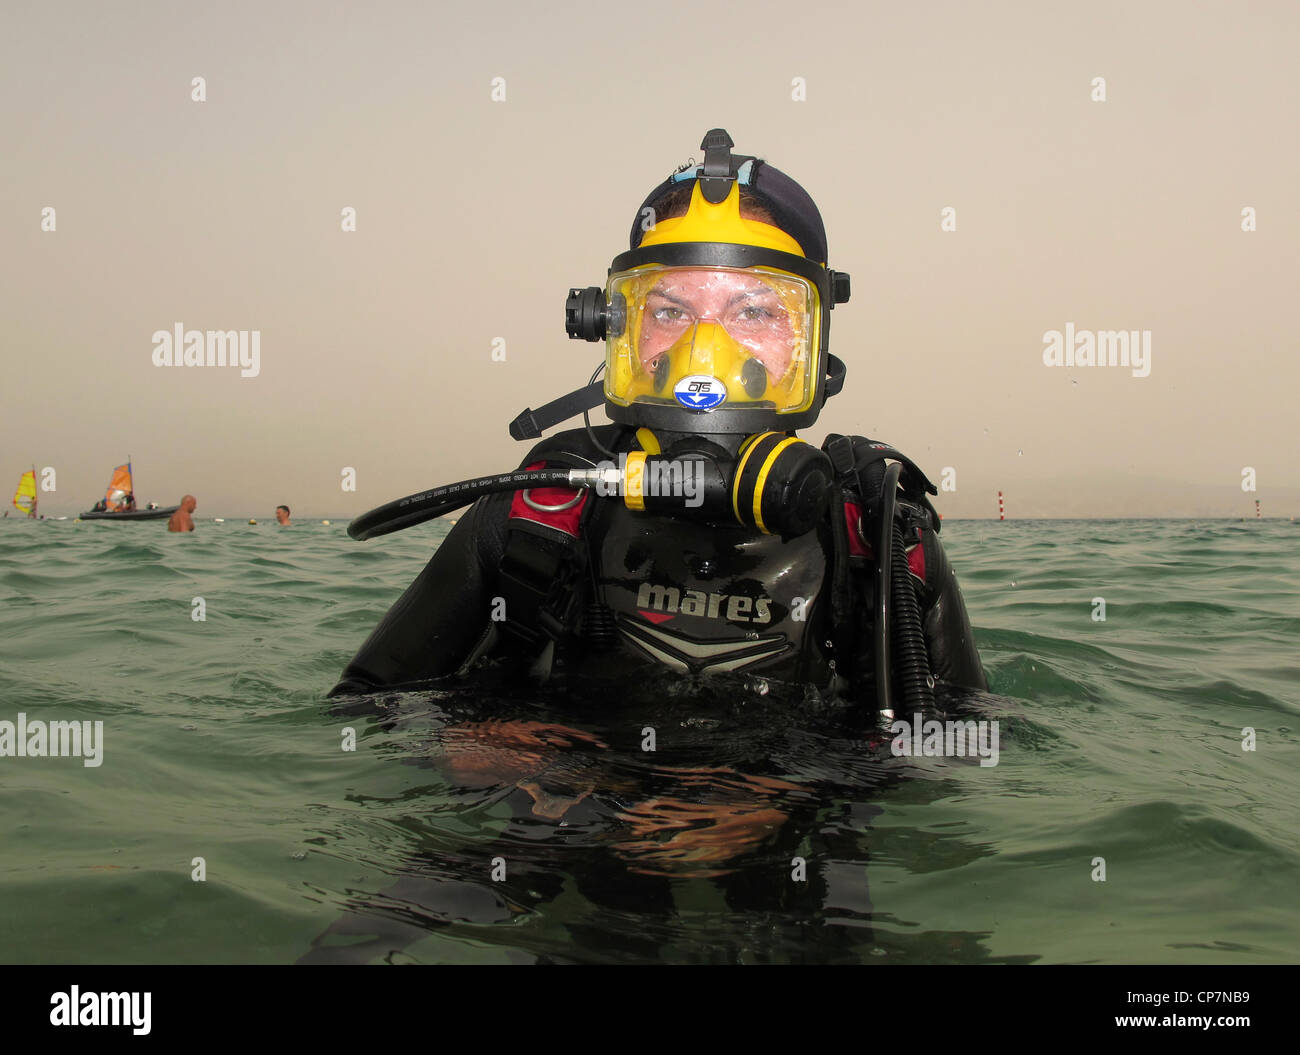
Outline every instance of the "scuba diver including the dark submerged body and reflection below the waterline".
<path id="1" fill-rule="evenodd" d="M 364 960 L 429 926 L 510 919 L 510 906 L 567 890 L 564 876 L 592 906 L 660 921 L 675 881 L 708 877 L 746 921 L 716 938 L 718 955 L 858 958 L 870 932 L 826 922 L 827 876 L 789 878 L 793 855 L 822 854 L 818 833 L 838 830 L 814 790 L 835 795 L 831 816 L 861 820 L 858 793 L 897 776 L 876 759 L 881 721 L 932 708 L 940 683 L 987 686 L 935 486 L 887 443 L 796 435 L 844 385 L 829 329 L 849 275 L 826 266 L 812 199 L 732 146 L 710 131 L 703 162 L 637 209 L 604 287 L 569 290 L 566 329 L 604 343 L 603 381 L 598 369 L 510 427 L 538 439 L 602 403 L 612 424 L 585 421 L 514 472 L 348 526 L 368 539 L 473 503 L 344 669 L 330 695 L 360 699 L 338 712 L 387 711 L 404 728 L 367 698 L 471 673 L 476 690 L 503 676 L 580 691 L 563 696 L 572 726 L 534 720 L 532 691 L 523 711 L 493 699 L 486 720 L 490 693 L 441 694 L 406 760 L 441 769 L 471 802 L 526 794 L 516 802 L 532 817 L 488 846 L 439 832 L 378 906 L 346 902 L 302 961 Z M 671 730 L 658 757 L 642 754 L 647 725 Z M 870 731 L 845 741 L 845 725 Z M 550 838 L 532 834 L 537 819 L 554 824 Z M 511 861 L 508 890 L 482 880 L 495 855 Z M 852 900 L 868 920 L 867 890 Z M 576 945 L 603 948 L 599 926 L 584 925 L 567 924 Z M 638 955 L 662 958 L 656 933 Z"/>

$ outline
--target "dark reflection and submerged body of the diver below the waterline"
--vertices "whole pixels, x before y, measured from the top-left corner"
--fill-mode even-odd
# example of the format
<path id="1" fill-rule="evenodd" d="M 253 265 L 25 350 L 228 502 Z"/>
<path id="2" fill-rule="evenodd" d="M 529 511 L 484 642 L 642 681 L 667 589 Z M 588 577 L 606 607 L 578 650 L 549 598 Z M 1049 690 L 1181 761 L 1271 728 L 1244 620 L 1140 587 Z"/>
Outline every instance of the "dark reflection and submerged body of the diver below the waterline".
<path id="1" fill-rule="evenodd" d="M 386 803 L 410 809 L 404 874 L 378 893 L 318 891 L 343 915 L 300 961 L 419 959 L 404 950 L 430 933 L 516 963 L 989 959 L 984 935 L 874 915 L 876 799 L 902 785 L 910 804 L 950 794 L 907 781 L 914 765 L 887 734 L 770 683 L 625 696 L 344 704 L 374 717 L 367 746 L 445 785 Z M 979 705 L 940 698 L 950 715 Z M 642 750 L 651 730 L 655 750 Z M 890 854 L 918 848 L 889 837 Z M 945 835 L 941 852 L 984 851 Z"/>

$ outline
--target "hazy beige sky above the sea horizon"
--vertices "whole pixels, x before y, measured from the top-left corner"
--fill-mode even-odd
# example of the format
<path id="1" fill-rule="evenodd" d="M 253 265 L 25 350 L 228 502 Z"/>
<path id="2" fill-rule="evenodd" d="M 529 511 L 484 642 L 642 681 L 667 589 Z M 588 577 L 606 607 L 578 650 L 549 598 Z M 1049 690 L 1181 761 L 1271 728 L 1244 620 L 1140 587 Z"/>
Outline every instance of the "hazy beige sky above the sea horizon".
<path id="1" fill-rule="evenodd" d="M 347 517 L 512 468 L 603 356 L 568 287 L 720 126 L 853 275 L 805 438 L 952 466 L 952 517 L 1295 516 L 1297 53 L 1282 0 L 6 0 L 0 485 L 74 513 L 130 455 L 142 500 Z M 177 324 L 259 330 L 259 375 L 155 366 Z M 1044 365 L 1067 324 L 1149 330 L 1149 375 Z"/>

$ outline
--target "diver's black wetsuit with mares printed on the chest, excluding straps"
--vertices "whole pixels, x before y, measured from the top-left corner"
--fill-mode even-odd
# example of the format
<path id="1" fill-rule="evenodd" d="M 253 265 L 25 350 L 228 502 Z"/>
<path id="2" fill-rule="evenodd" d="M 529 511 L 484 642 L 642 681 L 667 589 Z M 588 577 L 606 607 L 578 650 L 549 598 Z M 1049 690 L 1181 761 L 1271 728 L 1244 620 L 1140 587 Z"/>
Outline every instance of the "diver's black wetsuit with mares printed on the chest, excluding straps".
<path id="1" fill-rule="evenodd" d="M 593 430 L 614 451 L 636 447 L 632 429 Z M 594 465 L 607 455 L 576 429 L 538 443 L 521 463 L 537 468 Z M 554 503 L 554 498 L 550 499 Z M 546 667 L 568 677 L 610 673 L 625 683 L 634 677 L 671 678 L 685 673 L 742 672 L 792 683 L 861 695 L 870 685 L 871 634 L 866 605 L 854 615 L 849 650 L 832 625 L 832 525 L 829 518 L 806 535 L 783 542 L 740 525 L 703 525 L 637 513 L 621 500 L 589 496 L 594 503 L 580 538 L 586 566 L 577 587 L 612 609 L 599 647 L 578 624 L 559 635 Z M 936 680 L 985 689 L 984 672 L 957 579 L 919 503 L 900 495 L 911 539 L 909 553 L 922 608 L 931 669 Z M 537 628 L 516 631 L 502 622 L 511 599 L 502 563 L 521 507 L 516 494 L 480 499 L 454 526 L 429 564 L 389 609 L 348 664 L 332 695 L 416 687 L 481 660 L 506 657 L 517 669 L 536 667 L 549 638 Z M 832 516 L 842 516 L 836 507 Z M 534 526 L 523 525 L 537 533 Z M 542 529 L 545 534 L 550 529 Z M 915 539 L 919 538 L 919 542 Z M 555 534 L 555 538 L 560 535 Z M 870 566 L 855 546 L 857 574 Z M 552 551 L 558 550 L 552 546 Z M 510 566 L 507 564 L 507 566 Z M 536 570 L 536 569 L 534 569 Z M 918 574 L 918 572 L 923 573 Z M 870 572 L 867 572 L 870 576 Z M 495 618 L 494 618 L 495 616 Z M 840 628 L 842 631 L 842 628 Z M 836 644 L 838 643 L 838 650 Z M 845 651 L 853 655 L 846 656 Z M 499 665 L 499 664 L 498 664 Z M 644 672 L 644 673 L 642 673 Z"/>

